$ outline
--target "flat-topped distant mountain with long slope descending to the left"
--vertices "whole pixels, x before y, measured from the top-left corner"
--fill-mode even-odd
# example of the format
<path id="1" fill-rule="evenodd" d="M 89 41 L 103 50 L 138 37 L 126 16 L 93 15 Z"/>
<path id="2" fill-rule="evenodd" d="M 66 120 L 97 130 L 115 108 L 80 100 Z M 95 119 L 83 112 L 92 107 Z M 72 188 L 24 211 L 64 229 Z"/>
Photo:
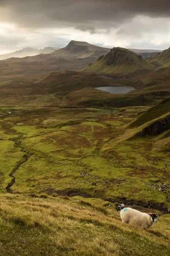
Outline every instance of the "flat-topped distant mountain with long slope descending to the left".
<path id="1" fill-rule="evenodd" d="M 24 58 L 8 58 L 0 61 L 0 72 L 3 75 L 23 75 L 51 73 L 53 71 L 80 71 L 100 55 L 110 51 L 88 44 L 86 42 L 71 41 L 65 48 L 48 54 L 38 54 Z"/>

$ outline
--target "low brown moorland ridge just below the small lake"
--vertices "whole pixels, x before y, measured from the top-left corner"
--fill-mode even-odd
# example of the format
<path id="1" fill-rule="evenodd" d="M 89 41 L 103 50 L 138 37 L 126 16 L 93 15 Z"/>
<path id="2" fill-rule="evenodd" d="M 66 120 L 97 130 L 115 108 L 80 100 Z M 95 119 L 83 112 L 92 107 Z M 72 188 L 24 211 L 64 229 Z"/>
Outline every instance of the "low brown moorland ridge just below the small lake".
<path id="1" fill-rule="evenodd" d="M 128 106 L 146 106 L 156 104 L 165 97 L 170 96 L 169 91 L 138 91 L 126 94 L 111 94 L 95 88 L 86 87 L 75 90 L 65 96 L 65 105 L 83 107 L 119 108 Z"/>

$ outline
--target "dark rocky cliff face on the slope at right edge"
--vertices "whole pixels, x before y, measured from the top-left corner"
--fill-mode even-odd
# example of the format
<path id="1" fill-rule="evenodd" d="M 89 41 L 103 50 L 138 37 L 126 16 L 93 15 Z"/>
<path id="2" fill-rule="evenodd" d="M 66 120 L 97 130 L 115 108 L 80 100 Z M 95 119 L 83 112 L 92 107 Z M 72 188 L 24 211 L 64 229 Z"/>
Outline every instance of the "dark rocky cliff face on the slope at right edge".
<path id="1" fill-rule="evenodd" d="M 153 124 L 149 125 L 148 127 L 144 128 L 140 133 L 137 135 L 140 137 L 145 137 L 147 135 L 158 135 L 164 131 L 170 129 L 170 115 L 154 122 Z"/>

